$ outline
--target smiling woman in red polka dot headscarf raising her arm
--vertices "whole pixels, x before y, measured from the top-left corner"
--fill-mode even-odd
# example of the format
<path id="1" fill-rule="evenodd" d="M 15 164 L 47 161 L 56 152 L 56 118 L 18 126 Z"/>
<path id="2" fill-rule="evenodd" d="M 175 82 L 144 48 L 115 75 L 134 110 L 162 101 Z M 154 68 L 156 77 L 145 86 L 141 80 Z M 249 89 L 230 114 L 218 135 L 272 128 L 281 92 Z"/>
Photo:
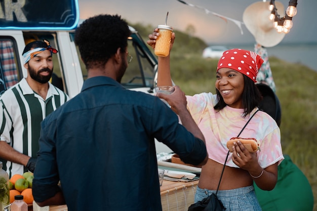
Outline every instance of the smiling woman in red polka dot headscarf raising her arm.
<path id="1" fill-rule="evenodd" d="M 155 48 L 157 29 L 147 43 Z M 171 47 L 175 39 L 172 34 Z M 170 56 L 159 57 L 157 85 L 172 85 Z M 236 137 L 251 116 L 257 112 L 261 94 L 256 87 L 256 76 L 263 60 L 255 52 L 230 49 L 219 59 L 216 75 L 216 94 L 200 93 L 185 96 L 180 89 L 171 95 L 157 93 L 178 113 L 186 105 L 203 132 L 209 159 L 202 167 L 195 202 L 218 187 L 228 148 L 227 141 Z M 217 196 L 226 210 L 261 210 L 253 182 L 262 190 L 272 190 L 278 179 L 278 165 L 283 161 L 280 129 L 265 112 L 257 112 L 243 129 L 241 138 L 255 138 L 260 150 L 249 152 L 237 141 L 229 153 Z"/>

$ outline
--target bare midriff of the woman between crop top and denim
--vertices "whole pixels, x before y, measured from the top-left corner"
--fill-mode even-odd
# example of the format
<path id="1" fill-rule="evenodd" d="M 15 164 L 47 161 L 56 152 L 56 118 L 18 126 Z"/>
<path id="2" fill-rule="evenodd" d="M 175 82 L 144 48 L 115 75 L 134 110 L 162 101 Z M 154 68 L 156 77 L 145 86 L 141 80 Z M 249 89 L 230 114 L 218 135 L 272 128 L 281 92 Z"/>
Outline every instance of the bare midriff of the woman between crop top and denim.
<path id="1" fill-rule="evenodd" d="M 202 167 L 198 187 L 208 190 L 217 190 L 223 165 L 211 159 Z M 219 190 L 230 190 L 247 187 L 253 184 L 249 173 L 240 168 L 226 166 L 222 175 Z"/>

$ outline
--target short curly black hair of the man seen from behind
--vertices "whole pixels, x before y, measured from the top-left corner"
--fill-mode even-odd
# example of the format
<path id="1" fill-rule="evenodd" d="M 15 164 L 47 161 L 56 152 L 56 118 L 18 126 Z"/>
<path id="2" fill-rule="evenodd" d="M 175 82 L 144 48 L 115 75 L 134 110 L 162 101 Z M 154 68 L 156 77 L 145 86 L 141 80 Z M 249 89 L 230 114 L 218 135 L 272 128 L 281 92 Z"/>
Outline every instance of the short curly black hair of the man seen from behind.
<path id="1" fill-rule="evenodd" d="M 75 30 L 74 41 L 87 69 L 104 66 L 118 48 L 125 52 L 131 31 L 118 15 L 98 15 Z"/>

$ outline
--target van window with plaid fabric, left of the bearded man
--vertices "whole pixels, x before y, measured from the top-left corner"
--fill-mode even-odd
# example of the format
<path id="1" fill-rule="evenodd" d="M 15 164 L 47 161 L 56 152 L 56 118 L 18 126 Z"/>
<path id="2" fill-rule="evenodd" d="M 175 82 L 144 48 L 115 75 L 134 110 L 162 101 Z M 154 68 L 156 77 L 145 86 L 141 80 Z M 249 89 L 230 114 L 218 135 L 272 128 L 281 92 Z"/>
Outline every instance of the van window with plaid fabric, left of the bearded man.
<path id="1" fill-rule="evenodd" d="M 16 43 L 13 38 L 0 37 L 0 94 L 18 83 L 22 77 L 16 52 Z"/>

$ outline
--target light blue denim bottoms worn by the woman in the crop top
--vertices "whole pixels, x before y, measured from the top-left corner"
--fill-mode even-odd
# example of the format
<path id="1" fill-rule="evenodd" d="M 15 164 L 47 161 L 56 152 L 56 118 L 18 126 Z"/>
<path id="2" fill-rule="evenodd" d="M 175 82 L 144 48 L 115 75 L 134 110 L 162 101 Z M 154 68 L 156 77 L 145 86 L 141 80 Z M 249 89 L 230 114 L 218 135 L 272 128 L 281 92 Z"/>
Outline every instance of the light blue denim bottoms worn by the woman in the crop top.
<path id="1" fill-rule="evenodd" d="M 201 189 L 196 187 L 195 202 L 203 200 L 216 193 L 215 190 Z M 254 187 L 248 186 L 232 190 L 218 190 L 218 198 L 226 208 L 226 211 L 261 211 L 261 206 L 255 195 Z"/>

